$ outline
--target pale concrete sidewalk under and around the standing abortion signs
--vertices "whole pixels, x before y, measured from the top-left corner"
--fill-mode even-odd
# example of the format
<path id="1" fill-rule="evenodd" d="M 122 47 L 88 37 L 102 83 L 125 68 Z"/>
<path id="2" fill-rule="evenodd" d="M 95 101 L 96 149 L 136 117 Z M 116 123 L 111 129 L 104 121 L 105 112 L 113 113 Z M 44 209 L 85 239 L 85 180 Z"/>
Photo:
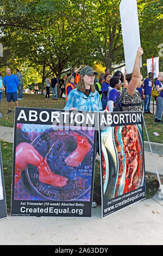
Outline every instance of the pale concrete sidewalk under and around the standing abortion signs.
<path id="1" fill-rule="evenodd" d="M 13 128 L 0 127 L 0 139 L 13 142 Z M 163 157 L 153 153 L 163 175 Z M 151 152 L 145 151 L 146 171 L 155 173 Z M 11 217 L 0 220 L 0 245 L 162 245 L 163 199 L 158 191 L 112 215 L 92 217 Z"/>

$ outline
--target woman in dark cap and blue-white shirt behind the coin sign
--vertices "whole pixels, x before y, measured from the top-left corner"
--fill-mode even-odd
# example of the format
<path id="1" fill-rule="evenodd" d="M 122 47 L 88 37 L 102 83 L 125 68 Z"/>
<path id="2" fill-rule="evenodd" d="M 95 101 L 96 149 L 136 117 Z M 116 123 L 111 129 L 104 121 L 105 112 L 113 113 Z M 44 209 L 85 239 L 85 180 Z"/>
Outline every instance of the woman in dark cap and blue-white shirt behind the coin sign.
<path id="1" fill-rule="evenodd" d="M 68 94 L 67 110 L 102 111 L 102 102 L 99 93 L 93 86 L 94 77 L 98 75 L 90 66 L 80 71 L 80 80 L 75 89 Z"/>

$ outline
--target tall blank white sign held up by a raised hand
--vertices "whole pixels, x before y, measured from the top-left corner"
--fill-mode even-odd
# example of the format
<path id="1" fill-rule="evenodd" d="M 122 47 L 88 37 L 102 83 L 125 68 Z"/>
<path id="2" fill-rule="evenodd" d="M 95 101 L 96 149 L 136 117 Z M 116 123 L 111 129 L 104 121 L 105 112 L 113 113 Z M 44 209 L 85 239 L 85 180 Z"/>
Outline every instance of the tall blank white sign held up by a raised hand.
<path id="1" fill-rule="evenodd" d="M 120 16 L 126 70 L 130 74 L 133 72 L 137 49 L 141 47 L 136 0 L 122 0 Z"/>

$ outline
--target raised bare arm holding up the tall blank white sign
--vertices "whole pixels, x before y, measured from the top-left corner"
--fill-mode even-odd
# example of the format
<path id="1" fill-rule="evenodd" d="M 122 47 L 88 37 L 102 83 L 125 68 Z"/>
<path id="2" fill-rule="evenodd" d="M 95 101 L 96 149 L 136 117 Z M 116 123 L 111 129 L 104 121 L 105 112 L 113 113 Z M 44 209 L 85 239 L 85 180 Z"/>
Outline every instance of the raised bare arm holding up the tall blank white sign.
<path id="1" fill-rule="evenodd" d="M 127 86 L 127 92 L 130 96 L 132 96 L 135 93 L 137 84 L 140 81 L 140 57 L 142 56 L 142 54 L 143 54 L 143 49 L 139 47 L 137 50 L 135 64 L 133 68 L 133 75 L 132 75 L 131 81 Z"/>

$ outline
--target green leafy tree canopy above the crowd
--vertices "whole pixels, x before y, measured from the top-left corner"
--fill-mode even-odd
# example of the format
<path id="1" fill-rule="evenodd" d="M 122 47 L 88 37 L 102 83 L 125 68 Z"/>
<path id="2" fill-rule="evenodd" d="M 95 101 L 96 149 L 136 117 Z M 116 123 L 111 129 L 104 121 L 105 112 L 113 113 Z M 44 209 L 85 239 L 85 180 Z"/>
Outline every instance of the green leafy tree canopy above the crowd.
<path id="1" fill-rule="evenodd" d="M 46 74 L 59 79 L 80 64 L 96 62 L 114 71 L 124 65 L 120 2 L 0 0 L 1 69 L 19 65 L 28 74 L 33 67 L 42 84 Z M 144 68 L 160 51 L 162 6 L 163 0 L 137 0 Z"/>

